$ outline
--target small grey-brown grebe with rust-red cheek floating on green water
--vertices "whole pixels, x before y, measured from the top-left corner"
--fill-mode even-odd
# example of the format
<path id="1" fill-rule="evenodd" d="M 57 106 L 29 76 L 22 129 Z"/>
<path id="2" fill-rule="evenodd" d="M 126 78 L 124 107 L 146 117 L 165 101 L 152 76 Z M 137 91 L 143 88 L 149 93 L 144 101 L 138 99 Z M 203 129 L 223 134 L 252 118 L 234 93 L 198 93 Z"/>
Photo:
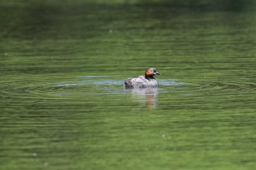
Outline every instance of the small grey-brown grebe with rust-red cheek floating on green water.
<path id="1" fill-rule="evenodd" d="M 157 69 L 146 69 L 145 76 L 135 76 L 125 80 L 124 88 L 158 88 L 159 84 L 154 78 L 157 74 L 160 74 Z"/>

